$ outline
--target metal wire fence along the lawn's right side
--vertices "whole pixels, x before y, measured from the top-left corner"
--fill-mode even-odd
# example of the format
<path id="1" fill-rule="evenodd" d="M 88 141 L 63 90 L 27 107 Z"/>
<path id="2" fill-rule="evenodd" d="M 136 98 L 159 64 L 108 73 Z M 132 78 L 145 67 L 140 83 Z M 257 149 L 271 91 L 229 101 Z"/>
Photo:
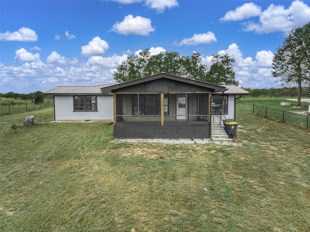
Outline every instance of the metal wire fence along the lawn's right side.
<path id="1" fill-rule="evenodd" d="M 305 129 L 310 129 L 309 115 L 283 111 L 280 109 L 273 109 L 253 105 L 253 114 L 261 117 L 270 118 L 277 122 L 291 124 Z"/>

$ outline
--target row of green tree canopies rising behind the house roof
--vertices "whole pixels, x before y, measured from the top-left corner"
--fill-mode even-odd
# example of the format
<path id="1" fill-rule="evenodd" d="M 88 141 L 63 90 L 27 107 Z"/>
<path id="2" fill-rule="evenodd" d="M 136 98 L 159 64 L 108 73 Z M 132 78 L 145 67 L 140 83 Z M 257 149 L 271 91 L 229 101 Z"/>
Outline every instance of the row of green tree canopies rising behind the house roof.
<path id="1" fill-rule="evenodd" d="M 213 84 L 238 85 L 233 72 L 234 59 L 227 54 L 213 57 L 214 63 L 208 71 L 202 56 L 197 52 L 184 57 L 175 51 L 151 55 L 150 50 L 145 49 L 136 56 L 128 56 L 127 60 L 117 67 L 114 79 L 116 82 L 124 82 L 165 72 Z"/>

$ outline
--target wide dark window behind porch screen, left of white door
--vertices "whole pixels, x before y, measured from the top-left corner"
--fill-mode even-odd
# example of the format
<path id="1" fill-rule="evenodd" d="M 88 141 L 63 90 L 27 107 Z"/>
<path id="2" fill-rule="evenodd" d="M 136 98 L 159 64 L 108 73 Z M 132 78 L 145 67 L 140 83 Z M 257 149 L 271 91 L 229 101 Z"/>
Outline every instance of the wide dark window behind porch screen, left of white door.
<path id="1" fill-rule="evenodd" d="M 132 114 L 138 115 L 138 95 L 132 96 Z M 168 96 L 164 96 L 164 114 L 168 115 Z M 139 115 L 160 115 L 160 95 L 139 95 Z"/>

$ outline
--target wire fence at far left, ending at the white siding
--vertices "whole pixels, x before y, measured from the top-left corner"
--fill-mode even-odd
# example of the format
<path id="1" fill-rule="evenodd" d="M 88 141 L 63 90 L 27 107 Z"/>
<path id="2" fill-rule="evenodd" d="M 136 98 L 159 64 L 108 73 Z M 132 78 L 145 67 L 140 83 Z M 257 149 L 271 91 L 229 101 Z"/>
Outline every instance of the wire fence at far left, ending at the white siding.
<path id="1" fill-rule="evenodd" d="M 53 102 L 49 101 L 40 104 L 23 103 L 23 104 L 0 105 L 0 115 L 18 114 L 49 107 L 53 107 Z"/>

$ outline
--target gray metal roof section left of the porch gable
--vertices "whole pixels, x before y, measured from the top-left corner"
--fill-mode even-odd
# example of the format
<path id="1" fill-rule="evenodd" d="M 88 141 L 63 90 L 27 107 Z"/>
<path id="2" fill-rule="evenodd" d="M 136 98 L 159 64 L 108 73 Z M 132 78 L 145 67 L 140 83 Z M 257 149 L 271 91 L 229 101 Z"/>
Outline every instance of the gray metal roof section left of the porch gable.
<path id="1" fill-rule="evenodd" d="M 72 95 L 72 94 L 102 94 L 101 88 L 115 85 L 117 83 L 96 86 L 58 86 L 44 92 L 46 95 Z"/>

